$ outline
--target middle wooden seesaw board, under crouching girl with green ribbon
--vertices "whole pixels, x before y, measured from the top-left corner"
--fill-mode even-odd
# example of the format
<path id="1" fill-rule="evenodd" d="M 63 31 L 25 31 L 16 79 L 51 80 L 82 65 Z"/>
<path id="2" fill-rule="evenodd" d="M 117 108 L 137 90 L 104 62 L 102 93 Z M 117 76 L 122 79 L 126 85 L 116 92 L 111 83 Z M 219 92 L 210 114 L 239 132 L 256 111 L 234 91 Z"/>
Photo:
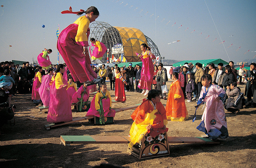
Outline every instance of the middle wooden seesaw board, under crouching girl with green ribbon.
<path id="1" fill-rule="evenodd" d="M 141 103 L 140 103 L 141 104 Z M 117 108 L 117 109 L 114 109 L 117 112 L 121 112 L 121 111 L 126 111 L 126 110 L 131 110 L 131 109 L 135 109 L 137 108 L 140 104 L 136 104 L 135 106 L 130 106 L 130 107 L 126 107 L 126 108 Z M 94 118 L 94 116 L 85 116 L 85 117 L 79 117 L 79 118 L 73 118 L 72 121 L 69 121 L 69 122 L 63 122 L 63 123 L 59 123 L 59 124 L 54 124 L 54 123 L 50 123 L 50 124 L 46 124 L 44 125 L 44 127 L 49 130 L 50 128 L 53 128 L 53 127 L 58 127 L 58 126 L 63 126 L 63 125 L 66 125 L 66 124 L 71 124 L 71 123 L 74 123 L 74 122 L 79 122 L 79 121 L 84 121 L 84 120 L 89 120 L 91 118 Z"/>

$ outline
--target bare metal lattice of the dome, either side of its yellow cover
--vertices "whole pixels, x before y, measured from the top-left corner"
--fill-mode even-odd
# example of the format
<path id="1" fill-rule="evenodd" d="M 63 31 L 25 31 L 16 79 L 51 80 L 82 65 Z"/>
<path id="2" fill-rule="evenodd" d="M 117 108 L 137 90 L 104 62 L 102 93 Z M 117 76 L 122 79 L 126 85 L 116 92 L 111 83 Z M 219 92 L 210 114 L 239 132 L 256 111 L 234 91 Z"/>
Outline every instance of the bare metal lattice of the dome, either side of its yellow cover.
<path id="1" fill-rule="evenodd" d="M 98 22 L 98 21 L 92 22 L 90 25 L 89 39 L 91 37 L 102 42 L 107 47 L 107 51 L 109 53 L 111 53 L 112 47 L 114 47 L 118 44 L 123 44 L 121 35 L 119 34 L 119 31 L 106 22 Z M 153 54 L 155 54 L 156 57 L 159 56 L 159 62 L 161 62 L 161 55 L 158 50 L 158 47 L 148 36 L 145 36 L 145 37 L 146 37 L 148 46 L 151 48 L 151 52 Z M 93 51 L 93 49 L 94 49 L 94 47 L 92 46 L 91 52 Z M 121 53 L 123 53 L 123 51 L 120 48 L 120 49 L 117 49 L 116 54 L 113 54 L 113 55 L 114 55 L 114 57 L 119 58 L 119 56 L 121 56 Z M 109 54 L 109 56 L 108 56 L 109 59 L 112 59 L 112 57 L 110 57 L 110 56 L 112 56 L 112 54 Z M 124 57 L 125 57 L 125 55 L 124 55 Z M 96 61 L 92 60 L 92 62 L 107 63 L 107 52 L 103 55 L 101 60 L 96 59 Z"/>

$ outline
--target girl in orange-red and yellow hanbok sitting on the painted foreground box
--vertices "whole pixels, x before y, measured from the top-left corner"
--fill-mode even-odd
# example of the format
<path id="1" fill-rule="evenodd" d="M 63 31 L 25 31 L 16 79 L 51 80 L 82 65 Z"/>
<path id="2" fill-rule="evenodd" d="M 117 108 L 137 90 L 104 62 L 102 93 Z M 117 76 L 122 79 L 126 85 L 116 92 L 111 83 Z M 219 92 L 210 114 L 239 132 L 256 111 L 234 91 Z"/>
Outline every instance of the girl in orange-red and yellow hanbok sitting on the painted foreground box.
<path id="1" fill-rule="evenodd" d="M 143 99 L 143 102 L 131 115 L 134 120 L 130 129 L 130 143 L 129 147 L 136 143 L 140 143 L 146 133 L 151 137 L 167 132 L 167 118 L 166 111 L 160 102 L 161 91 L 150 90 L 148 99 Z"/>

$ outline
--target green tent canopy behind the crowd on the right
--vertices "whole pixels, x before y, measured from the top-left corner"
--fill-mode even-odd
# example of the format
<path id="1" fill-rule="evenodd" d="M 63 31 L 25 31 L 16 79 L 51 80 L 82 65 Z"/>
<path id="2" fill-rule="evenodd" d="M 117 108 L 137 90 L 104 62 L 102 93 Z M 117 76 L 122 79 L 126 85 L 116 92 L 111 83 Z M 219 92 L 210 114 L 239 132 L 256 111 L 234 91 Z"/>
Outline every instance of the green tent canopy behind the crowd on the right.
<path id="1" fill-rule="evenodd" d="M 173 66 L 177 67 L 177 66 L 182 66 L 184 65 L 184 63 L 191 63 L 194 65 L 197 62 L 203 64 L 203 67 L 205 67 L 206 65 L 210 64 L 210 63 L 214 63 L 215 65 L 217 65 L 218 63 L 223 63 L 224 65 L 228 65 L 228 62 L 222 60 L 222 59 L 202 59 L 202 60 L 185 60 L 185 61 L 181 61 L 178 63 L 173 64 Z"/>

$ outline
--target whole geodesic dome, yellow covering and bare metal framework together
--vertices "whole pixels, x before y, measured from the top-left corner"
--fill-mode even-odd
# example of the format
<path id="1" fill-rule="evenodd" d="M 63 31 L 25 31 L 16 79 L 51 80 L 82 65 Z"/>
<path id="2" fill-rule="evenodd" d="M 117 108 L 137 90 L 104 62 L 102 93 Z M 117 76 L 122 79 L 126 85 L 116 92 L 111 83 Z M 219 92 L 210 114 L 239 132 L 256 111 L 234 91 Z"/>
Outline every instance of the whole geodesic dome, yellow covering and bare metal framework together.
<path id="1" fill-rule="evenodd" d="M 107 52 L 101 60 L 102 63 L 139 62 L 134 52 L 141 53 L 140 45 L 145 43 L 151 48 L 160 61 L 160 53 L 154 42 L 137 28 L 112 27 L 105 22 L 93 22 L 90 26 L 90 37 L 102 42 Z M 94 48 L 91 47 L 91 50 Z"/>

